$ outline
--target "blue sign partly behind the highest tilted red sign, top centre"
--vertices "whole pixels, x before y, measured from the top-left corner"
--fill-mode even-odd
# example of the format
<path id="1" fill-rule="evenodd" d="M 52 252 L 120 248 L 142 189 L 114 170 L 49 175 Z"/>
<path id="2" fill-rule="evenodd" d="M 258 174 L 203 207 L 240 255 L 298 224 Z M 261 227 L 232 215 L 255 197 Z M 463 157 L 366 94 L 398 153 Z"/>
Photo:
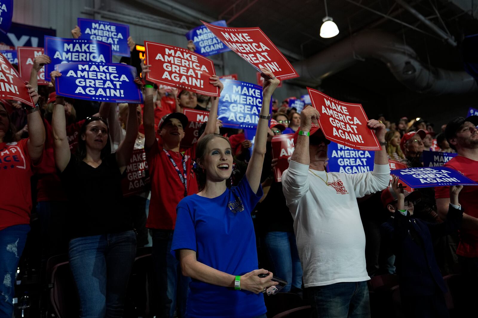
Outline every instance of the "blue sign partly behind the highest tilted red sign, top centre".
<path id="1" fill-rule="evenodd" d="M 211 22 L 211 24 L 219 25 L 222 27 L 226 27 L 226 21 L 216 21 Z M 196 45 L 196 53 L 201 54 L 202 56 L 209 56 L 214 55 L 222 52 L 230 51 L 223 42 L 217 39 L 216 35 L 214 35 L 206 26 L 201 25 L 197 28 L 186 33 L 187 40 L 193 40 L 194 45 Z"/>

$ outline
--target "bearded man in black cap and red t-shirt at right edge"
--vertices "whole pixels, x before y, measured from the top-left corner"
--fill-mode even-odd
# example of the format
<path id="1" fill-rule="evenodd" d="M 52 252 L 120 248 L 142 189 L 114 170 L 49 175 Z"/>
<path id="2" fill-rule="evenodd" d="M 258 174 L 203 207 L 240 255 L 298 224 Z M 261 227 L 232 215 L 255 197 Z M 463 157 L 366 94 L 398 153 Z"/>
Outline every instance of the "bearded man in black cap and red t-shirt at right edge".
<path id="1" fill-rule="evenodd" d="M 466 119 L 456 117 L 445 128 L 446 140 L 450 147 L 458 153 L 456 157 L 444 164 L 471 180 L 478 182 L 478 116 Z M 435 198 L 438 213 L 445 219 L 450 204 L 449 187 L 435 188 Z M 460 204 L 467 212 L 463 214 L 463 224 L 460 231 L 460 242 L 456 249 L 461 274 L 469 284 L 463 293 L 465 312 L 460 317 L 476 315 L 476 299 L 478 297 L 478 187 L 465 185 L 459 195 Z M 473 312 L 474 310 L 474 312 Z"/>

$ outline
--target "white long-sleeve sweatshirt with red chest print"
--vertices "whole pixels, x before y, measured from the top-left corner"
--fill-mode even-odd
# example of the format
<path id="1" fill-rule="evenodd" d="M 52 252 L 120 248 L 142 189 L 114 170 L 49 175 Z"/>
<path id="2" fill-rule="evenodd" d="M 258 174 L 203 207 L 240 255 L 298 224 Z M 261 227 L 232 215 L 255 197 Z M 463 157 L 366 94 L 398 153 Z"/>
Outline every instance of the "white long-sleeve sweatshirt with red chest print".
<path id="1" fill-rule="evenodd" d="M 323 180 L 310 172 L 308 165 L 292 160 L 282 174 L 304 287 L 370 279 L 357 198 L 388 186 L 389 165 L 375 164 L 373 171 L 363 174 L 313 171 Z"/>

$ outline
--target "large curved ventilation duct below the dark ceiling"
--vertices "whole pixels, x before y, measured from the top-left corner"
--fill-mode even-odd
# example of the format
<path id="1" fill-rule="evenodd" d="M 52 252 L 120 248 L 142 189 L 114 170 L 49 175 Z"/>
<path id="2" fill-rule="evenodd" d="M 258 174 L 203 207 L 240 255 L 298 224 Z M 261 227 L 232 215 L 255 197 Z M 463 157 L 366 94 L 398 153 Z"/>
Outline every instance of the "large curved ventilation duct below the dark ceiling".
<path id="1" fill-rule="evenodd" d="M 366 58 L 384 62 L 398 81 L 416 92 L 466 94 L 478 88 L 467 72 L 424 65 L 411 47 L 378 30 L 359 32 L 304 61 L 294 62 L 292 65 L 300 77 L 291 82 L 318 86 L 324 78 Z"/>

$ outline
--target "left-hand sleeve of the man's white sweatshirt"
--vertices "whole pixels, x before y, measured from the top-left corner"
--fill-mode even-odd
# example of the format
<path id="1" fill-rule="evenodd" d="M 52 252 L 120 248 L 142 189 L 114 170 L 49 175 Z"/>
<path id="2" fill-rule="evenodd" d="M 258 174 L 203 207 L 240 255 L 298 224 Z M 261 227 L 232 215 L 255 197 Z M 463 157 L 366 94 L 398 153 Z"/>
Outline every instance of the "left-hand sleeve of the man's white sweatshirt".
<path id="1" fill-rule="evenodd" d="M 309 166 L 293 160 L 282 174 L 282 190 L 287 204 L 297 201 L 309 192 Z"/>

